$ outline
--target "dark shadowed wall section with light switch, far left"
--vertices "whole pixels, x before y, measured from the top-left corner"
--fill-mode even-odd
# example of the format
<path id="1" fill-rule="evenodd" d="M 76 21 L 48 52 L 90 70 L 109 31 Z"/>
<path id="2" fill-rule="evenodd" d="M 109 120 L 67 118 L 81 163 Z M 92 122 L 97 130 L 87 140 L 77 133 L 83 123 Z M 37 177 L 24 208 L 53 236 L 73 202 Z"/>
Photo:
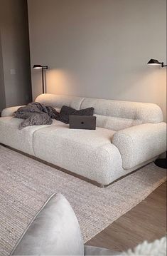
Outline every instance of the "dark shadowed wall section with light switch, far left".
<path id="1" fill-rule="evenodd" d="M 6 106 L 31 101 L 31 70 L 26 0 L 0 0 L 1 73 Z M 2 83 L 1 83 L 2 86 Z M 0 95 L 0 101 L 3 96 Z"/>

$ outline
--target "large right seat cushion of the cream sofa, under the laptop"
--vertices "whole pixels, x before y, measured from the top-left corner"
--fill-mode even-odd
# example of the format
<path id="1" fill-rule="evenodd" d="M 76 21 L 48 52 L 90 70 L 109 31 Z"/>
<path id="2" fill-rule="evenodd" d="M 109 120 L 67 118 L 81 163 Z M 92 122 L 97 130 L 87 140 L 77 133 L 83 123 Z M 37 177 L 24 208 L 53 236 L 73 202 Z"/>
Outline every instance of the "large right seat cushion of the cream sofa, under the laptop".
<path id="1" fill-rule="evenodd" d="M 34 133 L 33 149 L 36 157 L 48 163 L 107 185 L 122 170 L 119 150 L 111 143 L 113 134 L 114 130 L 104 128 L 77 130 L 50 126 Z"/>

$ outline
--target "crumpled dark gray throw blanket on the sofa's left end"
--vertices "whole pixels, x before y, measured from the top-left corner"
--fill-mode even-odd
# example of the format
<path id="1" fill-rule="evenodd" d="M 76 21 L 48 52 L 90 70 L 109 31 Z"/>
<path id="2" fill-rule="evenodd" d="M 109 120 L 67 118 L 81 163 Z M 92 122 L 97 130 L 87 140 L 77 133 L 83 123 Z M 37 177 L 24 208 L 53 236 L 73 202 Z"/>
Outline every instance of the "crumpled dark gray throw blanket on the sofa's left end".
<path id="1" fill-rule="evenodd" d="M 21 122 L 19 129 L 23 129 L 27 126 L 41 126 L 50 125 L 53 119 L 58 118 L 59 113 L 50 106 L 45 106 L 38 102 L 29 103 L 27 106 L 18 108 L 14 112 L 16 118 L 24 119 Z"/>

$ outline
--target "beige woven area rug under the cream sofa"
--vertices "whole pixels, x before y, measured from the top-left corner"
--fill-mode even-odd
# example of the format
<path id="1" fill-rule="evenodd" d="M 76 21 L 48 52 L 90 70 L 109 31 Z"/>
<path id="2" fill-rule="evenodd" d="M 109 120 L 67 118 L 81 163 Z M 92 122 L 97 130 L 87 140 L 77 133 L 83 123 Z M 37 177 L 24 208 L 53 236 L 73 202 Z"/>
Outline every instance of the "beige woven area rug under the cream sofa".
<path id="1" fill-rule="evenodd" d="M 87 242 L 165 180 L 166 171 L 152 163 L 98 188 L 0 145 L 0 255 L 9 255 L 52 193 L 63 193 L 69 200 Z"/>

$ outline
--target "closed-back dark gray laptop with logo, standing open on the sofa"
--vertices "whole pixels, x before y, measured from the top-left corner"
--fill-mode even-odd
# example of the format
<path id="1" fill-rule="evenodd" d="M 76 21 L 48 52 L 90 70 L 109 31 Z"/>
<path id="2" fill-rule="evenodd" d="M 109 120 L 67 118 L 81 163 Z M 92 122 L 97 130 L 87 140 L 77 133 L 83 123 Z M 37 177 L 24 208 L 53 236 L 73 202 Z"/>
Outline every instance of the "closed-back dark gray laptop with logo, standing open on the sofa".
<path id="1" fill-rule="evenodd" d="M 69 128 L 96 130 L 96 116 L 69 116 Z"/>

